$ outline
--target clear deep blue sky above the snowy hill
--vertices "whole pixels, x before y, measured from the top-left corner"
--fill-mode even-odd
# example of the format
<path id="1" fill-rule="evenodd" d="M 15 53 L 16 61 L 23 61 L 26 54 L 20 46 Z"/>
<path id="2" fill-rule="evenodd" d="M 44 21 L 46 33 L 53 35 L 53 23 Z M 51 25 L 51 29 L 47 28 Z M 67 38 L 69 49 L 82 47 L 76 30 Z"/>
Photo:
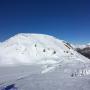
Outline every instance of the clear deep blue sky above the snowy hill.
<path id="1" fill-rule="evenodd" d="M 0 41 L 17 33 L 90 42 L 90 0 L 0 0 Z"/>

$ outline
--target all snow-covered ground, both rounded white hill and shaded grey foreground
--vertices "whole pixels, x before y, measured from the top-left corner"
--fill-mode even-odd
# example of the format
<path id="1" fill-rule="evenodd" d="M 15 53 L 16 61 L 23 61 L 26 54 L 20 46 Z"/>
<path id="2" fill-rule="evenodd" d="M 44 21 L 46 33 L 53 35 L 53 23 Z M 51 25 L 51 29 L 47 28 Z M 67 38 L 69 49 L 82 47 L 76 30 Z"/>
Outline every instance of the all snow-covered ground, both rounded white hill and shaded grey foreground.
<path id="1" fill-rule="evenodd" d="M 63 40 L 21 33 L 0 51 L 0 90 L 90 90 L 90 60 Z"/>

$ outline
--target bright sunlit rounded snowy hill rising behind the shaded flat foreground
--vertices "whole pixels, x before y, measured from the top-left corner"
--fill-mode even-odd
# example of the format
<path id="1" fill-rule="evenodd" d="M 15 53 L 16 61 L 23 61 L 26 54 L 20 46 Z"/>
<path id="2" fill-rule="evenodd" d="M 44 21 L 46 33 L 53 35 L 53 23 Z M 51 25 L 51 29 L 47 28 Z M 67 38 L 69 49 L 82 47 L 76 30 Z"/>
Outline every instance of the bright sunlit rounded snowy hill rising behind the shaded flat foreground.
<path id="1" fill-rule="evenodd" d="M 88 62 L 68 43 L 43 34 L 17 34 L 3 42 L 0 51 L 1 65 L 55 64 L 75 60 Z"/>

